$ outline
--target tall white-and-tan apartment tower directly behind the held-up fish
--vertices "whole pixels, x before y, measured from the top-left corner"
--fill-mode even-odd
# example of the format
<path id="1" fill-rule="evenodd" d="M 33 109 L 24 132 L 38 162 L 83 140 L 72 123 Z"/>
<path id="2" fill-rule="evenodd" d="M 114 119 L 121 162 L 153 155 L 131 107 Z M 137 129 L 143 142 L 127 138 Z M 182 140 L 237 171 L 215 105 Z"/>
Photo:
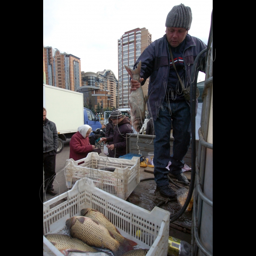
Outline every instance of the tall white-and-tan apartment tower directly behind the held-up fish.
<path id="1" fill-rule="evenodd" d="M 134 63 L 151 42 L 151 34 L 144 27 L 127 31 L 118 39 L 118 94 L 120 108 L 130 107 L 130 76 L 124 65 L 133 69 Z M 147 95 L 148 80 L 142 86 L 144 96 Z"/>

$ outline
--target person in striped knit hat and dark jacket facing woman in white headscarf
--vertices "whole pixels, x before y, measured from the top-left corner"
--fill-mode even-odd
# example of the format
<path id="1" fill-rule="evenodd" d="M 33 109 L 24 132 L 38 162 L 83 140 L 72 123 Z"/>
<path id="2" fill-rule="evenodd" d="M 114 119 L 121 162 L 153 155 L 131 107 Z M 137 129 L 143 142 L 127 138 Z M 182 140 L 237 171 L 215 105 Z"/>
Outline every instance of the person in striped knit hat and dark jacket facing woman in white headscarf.
<path id="1" fill-rule="evenodd" d="M 115 109 L 110 113 L 110 118 L 115 125 L 114 134 L 107 138 L 101 138 L 103 142 L 113 142 L 107 145 L 109 157 L 118 158 L 126 154 L 126 133 L 132 133 L 132 128 L 128 117 L 122 116 L 120 110 Z"/>

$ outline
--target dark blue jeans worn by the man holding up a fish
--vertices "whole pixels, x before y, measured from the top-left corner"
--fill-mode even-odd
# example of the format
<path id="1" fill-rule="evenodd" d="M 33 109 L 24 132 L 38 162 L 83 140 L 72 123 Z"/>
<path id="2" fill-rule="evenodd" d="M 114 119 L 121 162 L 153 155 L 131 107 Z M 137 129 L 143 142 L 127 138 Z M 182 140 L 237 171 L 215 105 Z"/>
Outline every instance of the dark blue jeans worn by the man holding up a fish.
<path id="1" fill-rule="evenodd" d="M 182 173 L 183 158 L 187 154 L 191 141 L 190 107 L 186 101 L 169 103 L 164 101 L 159 115 L 154 121 L 154 176 L 158 187 L 169 184 L 166 169 L 169 161 L 170 173 Z M 173 126 L 173 154 L 170 156 L 170 132 Z"/>

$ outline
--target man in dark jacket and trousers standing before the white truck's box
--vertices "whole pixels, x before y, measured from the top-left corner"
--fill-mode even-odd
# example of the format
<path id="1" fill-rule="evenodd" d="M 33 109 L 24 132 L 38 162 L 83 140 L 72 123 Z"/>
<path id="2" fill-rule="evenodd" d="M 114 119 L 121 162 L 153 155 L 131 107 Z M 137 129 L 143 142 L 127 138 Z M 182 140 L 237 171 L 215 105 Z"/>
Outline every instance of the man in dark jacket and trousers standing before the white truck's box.
<path id="1" fill-rule="evenodd" d="M 46 109 L 43 108 L 43 168 L 44 168 L 44 190 L 51 196 L 57 195 L 53 188 L 53 181 L 56 176 L 56 154 L 58 149 L 58 133 L 56 125 L 46 118 Z M 42 200 L 42 187 L 40 191 Z"/>

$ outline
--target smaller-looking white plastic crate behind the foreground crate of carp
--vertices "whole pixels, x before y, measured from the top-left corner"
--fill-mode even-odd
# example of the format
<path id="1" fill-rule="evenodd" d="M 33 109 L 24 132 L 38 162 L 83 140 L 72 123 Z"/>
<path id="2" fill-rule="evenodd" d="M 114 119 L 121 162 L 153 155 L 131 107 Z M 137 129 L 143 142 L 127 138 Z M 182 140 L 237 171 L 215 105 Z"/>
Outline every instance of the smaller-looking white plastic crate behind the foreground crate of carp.
<path id="1" fill-rule="evenodd" d="M 84 163 L 78 165 L 78 163 Z M 114 168 L 109 172 L 106 168 Z M 77 180 L 88 177 L 100 188 L 112 195 L 126 200 L 140 182 L 140 158 L 119 159 L 101 157 L 91 152 L 78 161 L 68 159 L 64 170 L 67 188 L 72 188 Z"/>

